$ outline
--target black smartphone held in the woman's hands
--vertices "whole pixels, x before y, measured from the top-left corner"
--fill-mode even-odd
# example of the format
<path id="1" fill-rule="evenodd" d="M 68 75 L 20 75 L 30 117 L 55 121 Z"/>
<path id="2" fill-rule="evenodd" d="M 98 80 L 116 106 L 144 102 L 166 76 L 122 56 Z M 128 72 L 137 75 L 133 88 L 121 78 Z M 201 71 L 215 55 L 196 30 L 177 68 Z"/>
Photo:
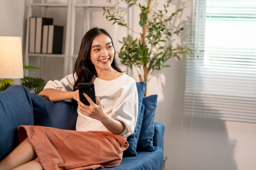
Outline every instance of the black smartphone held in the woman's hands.
<path id="1" fill-rule="evenodd" d="M 87 106 L 90 106 L 90 103 L 87 101 L 83 94 L 87 94 L 92 99 L 92 101 L 96 103 L 95 88 L 93 83 L 80 83 L 78 84 L 78 89 L 80 101 L 82 101 L 82 103 L 84 103 Z"/>

